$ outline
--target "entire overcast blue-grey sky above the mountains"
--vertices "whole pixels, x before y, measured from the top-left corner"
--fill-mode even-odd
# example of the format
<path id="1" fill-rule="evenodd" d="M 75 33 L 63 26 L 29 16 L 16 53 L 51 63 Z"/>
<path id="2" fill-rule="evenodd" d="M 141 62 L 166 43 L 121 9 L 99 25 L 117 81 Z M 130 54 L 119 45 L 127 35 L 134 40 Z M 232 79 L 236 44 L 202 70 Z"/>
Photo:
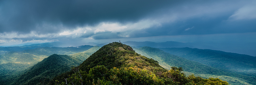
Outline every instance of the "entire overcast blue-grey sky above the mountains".
<path id="1" fill-rule="evenodd" d="M 247 37 L 256 34 L 255 4 L 256 0 L 0 0 L 0 43 Z"/>

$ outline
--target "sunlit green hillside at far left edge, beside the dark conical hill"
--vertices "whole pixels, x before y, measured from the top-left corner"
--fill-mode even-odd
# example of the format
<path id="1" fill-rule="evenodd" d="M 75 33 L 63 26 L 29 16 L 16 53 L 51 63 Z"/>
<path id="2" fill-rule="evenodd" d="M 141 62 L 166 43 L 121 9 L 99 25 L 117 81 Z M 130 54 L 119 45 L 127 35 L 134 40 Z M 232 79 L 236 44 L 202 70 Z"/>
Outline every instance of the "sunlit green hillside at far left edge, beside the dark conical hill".
<path id="1" fill-rule="evenodd" d="M 0 77 L 16 74 L 42 61 L 47 56 L 36 56 L 29 53 L 9 52 L 0 56 Z M 0 79 L 1 80 L 1 79 Z"/>

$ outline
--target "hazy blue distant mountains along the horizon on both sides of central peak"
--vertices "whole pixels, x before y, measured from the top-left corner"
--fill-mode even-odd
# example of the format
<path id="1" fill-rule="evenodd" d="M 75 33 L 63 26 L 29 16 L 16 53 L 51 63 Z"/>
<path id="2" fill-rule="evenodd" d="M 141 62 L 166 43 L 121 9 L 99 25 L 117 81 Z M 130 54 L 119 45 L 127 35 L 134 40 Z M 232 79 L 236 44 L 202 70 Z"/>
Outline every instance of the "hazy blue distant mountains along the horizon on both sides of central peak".
<path id="1" fill-rule="evenodd" d="M 221 50 L 225 52 L 233 52 L 239 54 L 246 54 L 251 56 L 256 56 L 256 45 L 255 43 L 232 43 L 232 42 L 174 42 L 174 41 L 167 41 L 167 42 L 134 42 L 134 41 L 127 41 L 123 42 L 124 44 L 140 48 L 144 46 L 154 47 L 154 48 L 199 48 L 199 49 L 211 49 L 211 50 Z M 91 45 L 91 46 L 99 46 L 102 47 L 106 45 L 106 43 L 79 43 L 80 45 Z M 28 49 L 35 49 L 38 47 L 77 47 L 79 46 L 78 43 L 60 43 L 60 42 L 52 42 L 52 43 L 23 43 L 19 45 L 12 45 L 12 46 L 0 46 L 0 54 L 6 53 L 10 51 L 20 51 L 20 50 L 28 50 Z"/>

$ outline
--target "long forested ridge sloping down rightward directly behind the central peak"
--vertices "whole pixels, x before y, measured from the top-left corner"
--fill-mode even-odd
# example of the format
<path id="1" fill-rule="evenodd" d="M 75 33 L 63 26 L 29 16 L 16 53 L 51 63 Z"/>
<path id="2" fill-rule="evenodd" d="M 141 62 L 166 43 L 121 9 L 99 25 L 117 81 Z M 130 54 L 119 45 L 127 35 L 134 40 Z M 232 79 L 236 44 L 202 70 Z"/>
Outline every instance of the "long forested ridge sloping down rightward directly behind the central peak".
<path id="1" fill-rule="evenodd" d="M 255 76 L 247 76 L 243 74 L 238 74 L 236 72 L 214 68 L 211 66 L 206 66 L 204 64 L 191 61 L 185 58 L 181 58 L 175 55 L 164 52 L 163 50 L 151 47 L 133 48 L 137 53 L 148 58 L 153 58 L 157 60 L 161 66 L 170 69 L 172 66 L 182 67 L 184 71 L 198 74 L 202 77 L 215 77 L 224 79 L 230 82 L 230 84 L 255 84 Z M 204 75 L 204 76 L 203 76 Z M 208 75 L 208 76 L 205 76 Z"/>

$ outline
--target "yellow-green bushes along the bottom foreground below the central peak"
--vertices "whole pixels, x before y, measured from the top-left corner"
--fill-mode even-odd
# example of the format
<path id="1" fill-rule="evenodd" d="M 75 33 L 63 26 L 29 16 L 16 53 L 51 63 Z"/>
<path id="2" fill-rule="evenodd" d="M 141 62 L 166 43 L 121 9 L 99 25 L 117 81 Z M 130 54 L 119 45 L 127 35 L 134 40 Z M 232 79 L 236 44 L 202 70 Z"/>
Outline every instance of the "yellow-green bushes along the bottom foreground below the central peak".
<path id="1" fill-rule="evenodd" d="M 73 68 L 75 73 L 70 74 L 65 81 L 55 80 L 57 85 L 228 85 L 227 81 L 218 78 L 203 79 L 181 73 L 181 68 L 173 67 L 171 70 L 163 68 L 124 67 L 107 69 L 105 66 L 95 66 L 89 73 Z M 158 71 L 156 71 L 158 70 Z M 159 73 L 160 72 L 160 73 Z M 96 81 L 97 80 L 97 81 Z"/>

